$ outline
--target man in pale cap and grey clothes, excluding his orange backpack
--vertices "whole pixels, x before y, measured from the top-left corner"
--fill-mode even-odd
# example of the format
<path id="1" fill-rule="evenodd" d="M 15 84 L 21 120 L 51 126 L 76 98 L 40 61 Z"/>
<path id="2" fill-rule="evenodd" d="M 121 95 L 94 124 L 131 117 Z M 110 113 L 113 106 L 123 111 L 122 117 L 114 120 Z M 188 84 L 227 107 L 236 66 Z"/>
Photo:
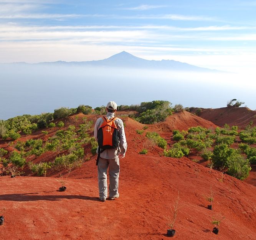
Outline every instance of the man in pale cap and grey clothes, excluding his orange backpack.
<path id="1" fill-rule="evenodd" d="M 115 116 L 117 110 L 117 104 L 115 102 L 109 102 L 106 107 L 106 118 L 109 120 Z M 101 124 L 104 122 L 103 118 L 98 118 L 94 127 L 94 138 L 98 140 L 98 130 Z M 117 148 L 106 149 L 100 153 L 98 162 L 98 183 L 99 183 L 99 200 L 106 201 L 107 198 L 107 169 L 109 168 L 109 199 L 114 200 L 119 197 L 118 193 L 118 179 L 119 179 L 119 158 L 122 159 L 125 156 L 127 143 L 126 135 L 124 133 L 124 123 L 120 118 L 114 120 L 118 129 L 119 146 Z M 97 150 L 98 152 L 98 150 Z"/>

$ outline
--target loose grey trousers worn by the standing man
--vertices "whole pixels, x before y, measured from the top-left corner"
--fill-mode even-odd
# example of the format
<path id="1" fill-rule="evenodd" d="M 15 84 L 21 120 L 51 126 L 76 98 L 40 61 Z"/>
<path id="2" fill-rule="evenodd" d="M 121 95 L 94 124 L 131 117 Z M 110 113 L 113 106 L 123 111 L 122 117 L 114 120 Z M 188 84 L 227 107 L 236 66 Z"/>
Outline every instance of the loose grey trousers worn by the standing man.
<path id="1" fill-rule="evenodd" d="M 118 179 L 120 172 L 118 156 L 113 159 L 99 158 L 99 197 L 104 198 L 107 198 L 107 168 L 109 168 L 109 197 L 114 197 L 118 193 Z"/>

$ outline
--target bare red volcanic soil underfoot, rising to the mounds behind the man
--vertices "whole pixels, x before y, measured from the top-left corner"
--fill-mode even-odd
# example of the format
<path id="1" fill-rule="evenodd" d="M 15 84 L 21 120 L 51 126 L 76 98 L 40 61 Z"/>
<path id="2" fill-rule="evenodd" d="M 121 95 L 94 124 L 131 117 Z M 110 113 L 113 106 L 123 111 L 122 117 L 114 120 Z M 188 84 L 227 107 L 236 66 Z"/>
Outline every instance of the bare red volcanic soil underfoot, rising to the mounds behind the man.
<path id="1" fill-rule="evenodd" d="M 121 113 L 117 113 L 120 115 Z M 83 114 L 69 117 L 65 123 L 79 125 Z M 94 122 L 99 116 L 88 115 Z M 128 150 L 120 161 L 120 197 L 100 202 L 98 199 L 96 156 L 71 171 L 65 192 L 59 192 L 59 173 L 45 177 L 0 177 L 0 210 L 5 207 L 0 239 L 19 240 L 162 240 L 167 237 L 167 219 L 172 218 L 178 193 L 178 213 L 174 223 L 174 239 L 181 240 L 254 240 L 256 239 L 256 187 L 244 181 L 211 170 L 186 157 L 162 156 L 162 149 L 150 148 L 147 155 L 139 151 L 146 144 L 145 132 L 155 131 L 171 144 L 172 130 L 188 130 L 200 125 L 215 128 L 210 121 L 192 113 L 179 112 L 163 123 L 145 125 L 129 117 L 124 120 Z M 228 123 L 228 122 L 227 122 Z M 49 136 L 53 132 L 49 131 Z M 48 138 L 41 131 L 33 138 Z M 36 135 L 38 134 L 38 135 Z M 92 134 L 92 132 L 91 132 Z M 23 136 L 19 140 L 28 139 Z M 7 143 L 0 140 L 0 147 Z M 10 147 L 9 147 L 10 148 Z M 90 149 L 85 148 L 87 157 Z M 42 155 L 41 160 L 51 159 Z M 27 159 L 29 161 L 29 159 Z M 36 160 L 39 161 L 39 160 Z M 206 164 L 207 165 L 207 164 Z M 26 175 L 32 174 L 25 169 Z M 63 173 L 64 179 L 67 173 Z M 213 210 L 204 196 L 214 194 Z M 172 210 L 171 210 L 172 209 Z M 218 235 L 211 221 L 220 219 Z"/>

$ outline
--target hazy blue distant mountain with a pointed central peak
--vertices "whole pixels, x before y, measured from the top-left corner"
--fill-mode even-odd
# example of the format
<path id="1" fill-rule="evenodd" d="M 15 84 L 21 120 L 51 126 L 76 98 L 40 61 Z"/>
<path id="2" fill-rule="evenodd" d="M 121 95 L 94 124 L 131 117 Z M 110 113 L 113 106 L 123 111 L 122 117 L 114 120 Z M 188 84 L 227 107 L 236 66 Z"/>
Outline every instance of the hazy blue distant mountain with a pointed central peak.
<path id="1" fill-rule="evenodd" d="M 24 62 L 15 64 L 25 64 Z M 193 71 L 193 72 L 223 72 L 214 69 L 197 67 L 184 62 L 174 60 L 146 60 L 133 56 L 126 51 L 115 54 L 109 58 L 97 61 L 83 61 L 83 62 L 40 62 L 33 65 L 51 65 L 51 66 L 97 66 L 97 67 L 118 67 L 118 68 L 133 68 L 133 69 L 159 69 L 171 71 Z"/>

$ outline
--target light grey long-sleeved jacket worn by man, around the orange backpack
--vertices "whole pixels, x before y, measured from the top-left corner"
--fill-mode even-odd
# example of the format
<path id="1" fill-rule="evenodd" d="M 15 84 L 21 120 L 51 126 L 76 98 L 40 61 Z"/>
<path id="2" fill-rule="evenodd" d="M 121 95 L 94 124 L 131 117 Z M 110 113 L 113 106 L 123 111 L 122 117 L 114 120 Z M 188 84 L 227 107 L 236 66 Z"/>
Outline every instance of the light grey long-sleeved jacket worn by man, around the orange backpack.
<path id="1" fill-rule="evenodd" d="M 108 112 L 106 115 L 107 119 L 110 119 L 112 117 L 115 117 L 115 113 Z M 97 134 L 99 127 L 101 127 L 101 124 L 104 122 L 102 118 L 98 118 L 95 127 L 94 127 L 94 138 L 97 141 Z M 120 118 L 116 118 L 114 120 L 114 123 L 116 123 L 116 127 L 119 131 L 119 146 L 114 149 L 106 149 L 101 153 L 101 158 L 106 158 L 106 159 L 112 159 L 116 158 L 119 156 L 119 154 L 122 154 L 123 156 L 126 153 L 127 150 L 127 142 L 126 142 L 126 135 L 124 133 L 124 123 Z M 98 149 L 97 149 L 98 153 Z"/>

